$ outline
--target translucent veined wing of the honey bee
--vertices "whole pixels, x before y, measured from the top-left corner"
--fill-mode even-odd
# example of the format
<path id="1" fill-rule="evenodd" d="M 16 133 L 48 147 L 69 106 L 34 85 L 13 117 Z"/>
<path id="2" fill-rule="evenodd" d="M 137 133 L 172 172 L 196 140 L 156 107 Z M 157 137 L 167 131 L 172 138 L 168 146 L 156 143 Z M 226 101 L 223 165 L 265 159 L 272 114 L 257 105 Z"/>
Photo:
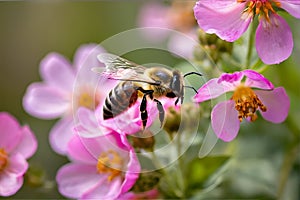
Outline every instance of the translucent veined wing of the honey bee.
<path id="1" fill-rule="evenodd" d="M 101 68 L 93 68 L 93 71 L 102 73 L 109 79 L 122 81 L 145 82 L 153 85 L 159 85 L 160 82 L 155 81 L 145 75 L 147 68 L 135 64 L 129 60 L 110 53 L 102 53 L 97 56 L 98 60 L 105 64 L 105 70 Z"/>

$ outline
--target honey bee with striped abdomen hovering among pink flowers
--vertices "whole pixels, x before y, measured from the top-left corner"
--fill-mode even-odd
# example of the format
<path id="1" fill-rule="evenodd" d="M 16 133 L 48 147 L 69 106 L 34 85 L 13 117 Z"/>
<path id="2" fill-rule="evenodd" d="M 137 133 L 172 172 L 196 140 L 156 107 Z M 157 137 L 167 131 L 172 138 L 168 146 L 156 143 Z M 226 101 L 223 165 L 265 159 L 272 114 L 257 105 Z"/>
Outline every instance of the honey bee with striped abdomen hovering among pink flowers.
<path id="1" fill-rule="evenodd" d="M 191 88 L 197 93 L 195 88 L 184 85 L 183 78 L 190 74 L 202 76 L 198 72 L 182 75 L 178 70 L 169 70 L 163 67 L 147 68 L 109 53 L 98 55 L 98 60 L 104 63 L 106 68 L 104 71 L 101 68 L 93 68 L 93 71 L 102 73 L 108 79 L 120 81 L 105 99 L 103 119 L 114 118 L 135 104 L 138 98 L 142 98 L 140 113 L 143 129 L 145 129 L 148 119 L 147 97 L 156 102 L 162 125 L 165 111 L 159 98 L 177 98 L 175 105 L 179 101 L 182 104 L 184 87 Z"/>

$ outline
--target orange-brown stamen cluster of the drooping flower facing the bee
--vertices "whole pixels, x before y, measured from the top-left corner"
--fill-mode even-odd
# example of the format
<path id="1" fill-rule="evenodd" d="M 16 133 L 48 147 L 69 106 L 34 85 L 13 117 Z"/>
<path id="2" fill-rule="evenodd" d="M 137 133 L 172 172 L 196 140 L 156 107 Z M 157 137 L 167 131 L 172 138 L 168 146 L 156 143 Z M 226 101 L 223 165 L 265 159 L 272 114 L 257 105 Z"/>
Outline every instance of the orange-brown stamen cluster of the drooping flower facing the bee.
<path id="1" fill-rule="evenodd" d="M 239 120 L 250 117 L 251 121 L 257 119 L 255 114 L 259 108 L 262 112 L 267 111 L 267 107 L 260 101 L 254 91 L 247 86 L 239 86 L 233 93 L 232 100 L 235 101 L 235 109 L 239 112 Z"/>

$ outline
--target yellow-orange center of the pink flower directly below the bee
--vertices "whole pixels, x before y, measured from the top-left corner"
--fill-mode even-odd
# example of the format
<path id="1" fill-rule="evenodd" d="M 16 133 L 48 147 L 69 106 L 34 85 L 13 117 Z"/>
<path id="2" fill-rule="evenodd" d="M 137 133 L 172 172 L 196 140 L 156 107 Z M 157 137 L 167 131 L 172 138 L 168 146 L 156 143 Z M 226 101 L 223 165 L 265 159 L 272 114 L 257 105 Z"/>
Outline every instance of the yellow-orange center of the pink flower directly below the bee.
<path id="1" fill-rule="evenodd" d="M 123 165 L 124 160 L 120 157 L 120 154 L 116 151 L 108 150 L 99 156 L 97 172 L 107 173 L 107 180 L 112 181 L 115 177 L 121 175 Z"/>

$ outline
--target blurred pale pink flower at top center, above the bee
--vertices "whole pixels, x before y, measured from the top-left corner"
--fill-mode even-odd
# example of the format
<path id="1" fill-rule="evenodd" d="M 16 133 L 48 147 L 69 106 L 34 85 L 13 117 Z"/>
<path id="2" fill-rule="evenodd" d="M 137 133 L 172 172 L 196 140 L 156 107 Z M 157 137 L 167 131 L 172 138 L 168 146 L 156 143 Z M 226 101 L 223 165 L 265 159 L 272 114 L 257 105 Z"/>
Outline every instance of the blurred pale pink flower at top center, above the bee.
<path id="1" fill-rule="evenodd" d="M 192 58 L 197 45 L 193 5 L 194 1 L 172 1 L 171 5 L 158 1 L 147 2 L 140 10 L 138 25 L 153 29 L 146 29 L 143 36 L 153 42 L 170 37 L 168 48 L 172 53 Z"/>

